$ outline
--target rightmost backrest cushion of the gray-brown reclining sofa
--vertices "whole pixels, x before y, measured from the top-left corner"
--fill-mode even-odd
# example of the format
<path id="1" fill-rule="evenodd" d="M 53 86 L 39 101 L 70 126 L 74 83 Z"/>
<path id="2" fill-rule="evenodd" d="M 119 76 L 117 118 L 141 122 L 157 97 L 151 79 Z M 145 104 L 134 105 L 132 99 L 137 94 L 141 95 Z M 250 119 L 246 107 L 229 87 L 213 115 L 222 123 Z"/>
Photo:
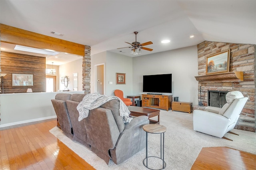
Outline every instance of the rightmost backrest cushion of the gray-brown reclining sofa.
<path id="1" fill-rule="evenodd" d="M 120 113 L 119 113 L 119 108 L 120 108 L 119 105 L 120 105 L 120 101 L 118 101 L 117 99 L 113 99 L 111 101 L 104 103 L 100 107 L 105 109 L 110 109 L 112 111 L 118 130 L 119 132 L 122 132 L 124 130 L 124 121 L 123 121 L 123 117 L 120 116 Z"/>

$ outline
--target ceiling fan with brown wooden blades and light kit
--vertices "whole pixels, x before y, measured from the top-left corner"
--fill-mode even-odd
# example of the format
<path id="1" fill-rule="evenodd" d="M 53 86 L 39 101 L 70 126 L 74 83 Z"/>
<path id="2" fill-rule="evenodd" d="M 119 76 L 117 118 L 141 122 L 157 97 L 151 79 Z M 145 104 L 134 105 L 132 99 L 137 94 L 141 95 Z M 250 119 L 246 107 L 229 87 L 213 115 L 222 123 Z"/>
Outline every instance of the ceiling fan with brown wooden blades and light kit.
<path id="1" fill-rule="evenodd" d="M 141 53 L 140 49 L 145 49 L 145 50 L 148 50 L 148 51 L 153 50 L 151 48 L 143 47 L 145 45 L 153 44 L 152 42 L 145 42 L 145 43 L 137 42 L 138 32 L 134 32 L 134 34 L 135 34 L 135 42 L 132 42 L 132 43 L 125 42 L 125 43 L 128 43 L 128 44 L 132 45 L 132 46 L 131 47 L 122 47 L 122 48 L 132 48 L 131 54 L 134 54 L 134 55 L 137 55 L 137 54 Z M 117 48 L 117 49 L 121 49 L 121 48 Z"/>

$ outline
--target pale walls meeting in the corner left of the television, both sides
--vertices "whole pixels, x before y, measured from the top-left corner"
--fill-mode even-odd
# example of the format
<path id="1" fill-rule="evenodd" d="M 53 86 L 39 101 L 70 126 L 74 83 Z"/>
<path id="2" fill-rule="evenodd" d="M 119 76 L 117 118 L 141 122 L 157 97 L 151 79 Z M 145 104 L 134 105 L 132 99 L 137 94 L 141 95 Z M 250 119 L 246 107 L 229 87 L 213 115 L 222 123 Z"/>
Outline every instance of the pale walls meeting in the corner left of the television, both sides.
<path id="1" fill-rule="evenodd" d="M 196 45 L 139 57 L 105 51 L 92 55 L 91 63 L 92 93 L 96 82 L 94 65 L 105 63 L 106 95 L 114 95 L 115 89 L 124 91 L 124 96 L 140 95 L 143 75 L 172 73 L 172 97 L 198 105 L 198 81 L 195 79 L 198 75 Z M 126 73 L 125 85 L 116 85 L 116 73 Z"/>

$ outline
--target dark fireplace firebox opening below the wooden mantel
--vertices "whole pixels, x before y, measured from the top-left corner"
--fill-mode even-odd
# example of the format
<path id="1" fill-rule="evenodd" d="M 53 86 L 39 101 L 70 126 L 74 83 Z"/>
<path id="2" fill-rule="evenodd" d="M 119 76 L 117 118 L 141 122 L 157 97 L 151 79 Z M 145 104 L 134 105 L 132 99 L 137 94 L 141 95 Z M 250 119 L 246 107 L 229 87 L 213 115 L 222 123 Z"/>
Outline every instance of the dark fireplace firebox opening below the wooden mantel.
<path id="1" fill-rule="evenodd" d="M 208 91 L 208 106 L 222 108 L 226 101 L 228 91 Z"/>

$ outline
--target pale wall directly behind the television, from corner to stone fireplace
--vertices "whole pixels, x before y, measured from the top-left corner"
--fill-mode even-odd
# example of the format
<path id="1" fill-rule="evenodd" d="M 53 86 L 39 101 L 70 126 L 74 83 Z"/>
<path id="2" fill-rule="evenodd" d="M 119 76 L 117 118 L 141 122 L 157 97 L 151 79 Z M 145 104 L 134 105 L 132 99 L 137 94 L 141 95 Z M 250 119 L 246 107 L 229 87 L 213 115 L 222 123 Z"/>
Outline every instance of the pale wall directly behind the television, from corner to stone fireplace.
<path id="1" fill-rule="evenodd" d="M 172 97 L 198 105 L 197 46 L 133 57 L 133 94 L 142 94 L 143 75 L 172 73 Z"/>

